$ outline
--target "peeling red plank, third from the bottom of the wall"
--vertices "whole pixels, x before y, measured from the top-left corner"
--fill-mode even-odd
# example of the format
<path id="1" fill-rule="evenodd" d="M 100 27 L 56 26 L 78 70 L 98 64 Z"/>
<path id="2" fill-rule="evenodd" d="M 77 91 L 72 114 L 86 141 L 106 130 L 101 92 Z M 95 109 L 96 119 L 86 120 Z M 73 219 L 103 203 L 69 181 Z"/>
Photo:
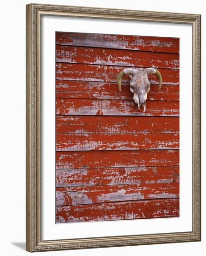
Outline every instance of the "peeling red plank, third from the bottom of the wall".
<path id="1" fill-rule="evenodd" d="M 177 174 L 179 166 L 57 169 L 56 187 L 169 184 Z"/>

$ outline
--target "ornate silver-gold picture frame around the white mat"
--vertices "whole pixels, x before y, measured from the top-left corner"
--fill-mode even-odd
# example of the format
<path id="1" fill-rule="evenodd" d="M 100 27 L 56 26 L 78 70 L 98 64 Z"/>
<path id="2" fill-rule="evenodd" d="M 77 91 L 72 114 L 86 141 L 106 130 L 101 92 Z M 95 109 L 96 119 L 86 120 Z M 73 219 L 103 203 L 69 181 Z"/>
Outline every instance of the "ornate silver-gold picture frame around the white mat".
<path id="1" fill-rule="evenodd" d="M 142 20 L 193 27 L 193 231 L 81 239 L 41 239 L 40 19 L 42 15 Z M 200 241 L 200 19 L 199 14 L 91 7 L 26 6 L 26 250 L 29 252 Z"/>

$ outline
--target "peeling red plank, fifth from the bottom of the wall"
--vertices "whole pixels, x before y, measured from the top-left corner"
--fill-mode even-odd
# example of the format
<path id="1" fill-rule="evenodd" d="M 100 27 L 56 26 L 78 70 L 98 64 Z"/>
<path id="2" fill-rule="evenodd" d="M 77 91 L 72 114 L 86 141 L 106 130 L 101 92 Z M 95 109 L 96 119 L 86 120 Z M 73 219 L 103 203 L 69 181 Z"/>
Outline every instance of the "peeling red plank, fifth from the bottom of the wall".
<path id="1" fill-rule="evenodd" d="M 57 151 L 178 149 L 179 134 L 57 134 Z"/>

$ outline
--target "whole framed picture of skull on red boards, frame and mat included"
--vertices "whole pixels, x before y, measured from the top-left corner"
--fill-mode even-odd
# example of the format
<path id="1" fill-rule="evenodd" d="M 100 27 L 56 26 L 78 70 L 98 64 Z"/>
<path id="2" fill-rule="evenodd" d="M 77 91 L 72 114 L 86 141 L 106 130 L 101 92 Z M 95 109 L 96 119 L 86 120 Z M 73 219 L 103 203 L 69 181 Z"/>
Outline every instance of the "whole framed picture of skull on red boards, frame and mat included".
<path id="1" fill-rule="evenodd" d="M 200 241 L 200 15 L 26 25 L 26 250 Z"/>

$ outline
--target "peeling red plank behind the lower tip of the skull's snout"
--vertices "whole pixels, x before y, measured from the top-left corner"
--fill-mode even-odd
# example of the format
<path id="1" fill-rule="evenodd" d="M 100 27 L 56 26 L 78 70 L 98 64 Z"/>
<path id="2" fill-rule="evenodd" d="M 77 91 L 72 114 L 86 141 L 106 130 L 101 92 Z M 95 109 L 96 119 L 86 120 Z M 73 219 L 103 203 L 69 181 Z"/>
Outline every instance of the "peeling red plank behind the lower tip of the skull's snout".
<path id="1" fill-rule="evenodd" d="M 147 101 L 143 112 L 133 100 L 57 99 L 56 114 L 179 116 L 179 101 Z"/>

